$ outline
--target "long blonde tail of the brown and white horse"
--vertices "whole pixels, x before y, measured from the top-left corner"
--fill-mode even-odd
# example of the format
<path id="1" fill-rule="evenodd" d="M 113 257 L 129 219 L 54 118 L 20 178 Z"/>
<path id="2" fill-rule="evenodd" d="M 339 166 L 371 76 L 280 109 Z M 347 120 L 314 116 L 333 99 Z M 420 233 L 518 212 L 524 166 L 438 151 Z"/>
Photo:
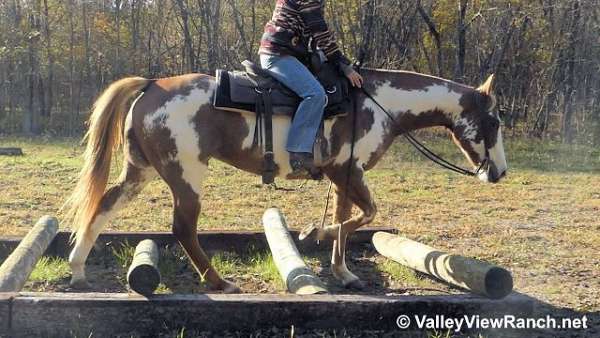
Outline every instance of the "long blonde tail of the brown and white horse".
<path id="1" fill-rule="evenodd" d="M 87 141 L 84 165 L 75 190 L 65 203 L 69 208 L 65 219 L 73 229 L 71 240 L 79 239 L 91 226 L 108 183 L 113 152 L 123 144 L 127 105 L 151 81 L 142 77 L 119 80 L 94 103 L 84 137 Z"/>

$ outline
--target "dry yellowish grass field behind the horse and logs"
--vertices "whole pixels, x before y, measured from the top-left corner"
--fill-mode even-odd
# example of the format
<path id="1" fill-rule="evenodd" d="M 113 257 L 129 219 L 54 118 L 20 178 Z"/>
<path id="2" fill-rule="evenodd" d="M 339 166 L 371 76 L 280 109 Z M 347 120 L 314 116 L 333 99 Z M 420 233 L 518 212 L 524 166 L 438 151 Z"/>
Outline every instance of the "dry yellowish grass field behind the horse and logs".
<path id="1" fill-rule="evenodd" d="M 446 139 L 428 143 L 464 161 Z M 20 146 L 26 155 L 0 157 L 0 234 L 23 235 L 38 217 L 57 212 L 74 186 L 82 148 L 74 140 L 6 138 L 2 146 Z M 397 142 L 368 174 L 379 206 L 374 225 L 506 266 L 519 291 L 552 304 L 599 310 L 600 151 L 536 140 L 513 140 L 506 148 L 509 177 L 486 185 L 434 167 Z M 262 212 L 273 205 L 292 227 L 302 227 L 320 219 L 327 183 L 273 191 L 214 161 L 205 191 L 200 229 L 259 229 Z M 168 187 L 157 180 L 106 230 L 168 231 L 170 218 Z"/>

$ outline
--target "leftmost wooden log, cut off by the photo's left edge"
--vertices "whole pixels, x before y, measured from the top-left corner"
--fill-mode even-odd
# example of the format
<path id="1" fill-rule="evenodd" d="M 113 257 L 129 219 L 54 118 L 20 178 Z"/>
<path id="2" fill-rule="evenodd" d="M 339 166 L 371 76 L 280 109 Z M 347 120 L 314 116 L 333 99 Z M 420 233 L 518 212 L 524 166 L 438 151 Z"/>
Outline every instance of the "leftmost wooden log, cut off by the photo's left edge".
<path id="1" fill-rule="evenodd" d="M 58 232 L 58 220 L 44 216 L 0 266 L 0 292 L 21 291 L 35 264 Z"/>

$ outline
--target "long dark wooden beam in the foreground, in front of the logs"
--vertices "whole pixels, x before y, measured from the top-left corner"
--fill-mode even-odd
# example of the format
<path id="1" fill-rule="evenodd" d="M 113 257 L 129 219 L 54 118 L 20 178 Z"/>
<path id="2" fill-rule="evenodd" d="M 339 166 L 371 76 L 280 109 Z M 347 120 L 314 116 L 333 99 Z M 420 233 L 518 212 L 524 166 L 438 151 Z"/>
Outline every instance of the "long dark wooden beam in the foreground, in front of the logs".
<path id="1" fill-rule="evenodd" d="M 172 335 L 182 328 L 186 332 L 252 332 L 273 327 L 289 330 L 291 326 L 389 331 L 398 330 L 396 319 L 402 314 L 411 318 L 518 318 L 532 316 L 534 304 L 534 299 L 520 294 L 498 301 L 473 295 L 194 294 L 146 298 L 136 294 L 22 292 L 12 300 L 11 337 L 88 337 L 92 332 L 95 337 L 158 336 Z M 416 329 L 415 325 L 411 329 Z"/>

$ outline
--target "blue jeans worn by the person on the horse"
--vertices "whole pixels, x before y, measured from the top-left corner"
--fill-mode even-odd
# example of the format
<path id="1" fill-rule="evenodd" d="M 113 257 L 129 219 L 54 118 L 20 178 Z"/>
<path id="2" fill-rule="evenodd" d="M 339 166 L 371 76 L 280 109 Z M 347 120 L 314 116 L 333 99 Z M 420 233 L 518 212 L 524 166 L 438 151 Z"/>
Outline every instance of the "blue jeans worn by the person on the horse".
<path id="1" fill-rule="evenodd" d="M 287 151 L 312 154 L 327 105 L 327 94 L 323 86 L 293 56 L 261 54 L 260 64 L 262 68 L 270 70 L 279 82 L 302 98 L 288 133 Z"/>

